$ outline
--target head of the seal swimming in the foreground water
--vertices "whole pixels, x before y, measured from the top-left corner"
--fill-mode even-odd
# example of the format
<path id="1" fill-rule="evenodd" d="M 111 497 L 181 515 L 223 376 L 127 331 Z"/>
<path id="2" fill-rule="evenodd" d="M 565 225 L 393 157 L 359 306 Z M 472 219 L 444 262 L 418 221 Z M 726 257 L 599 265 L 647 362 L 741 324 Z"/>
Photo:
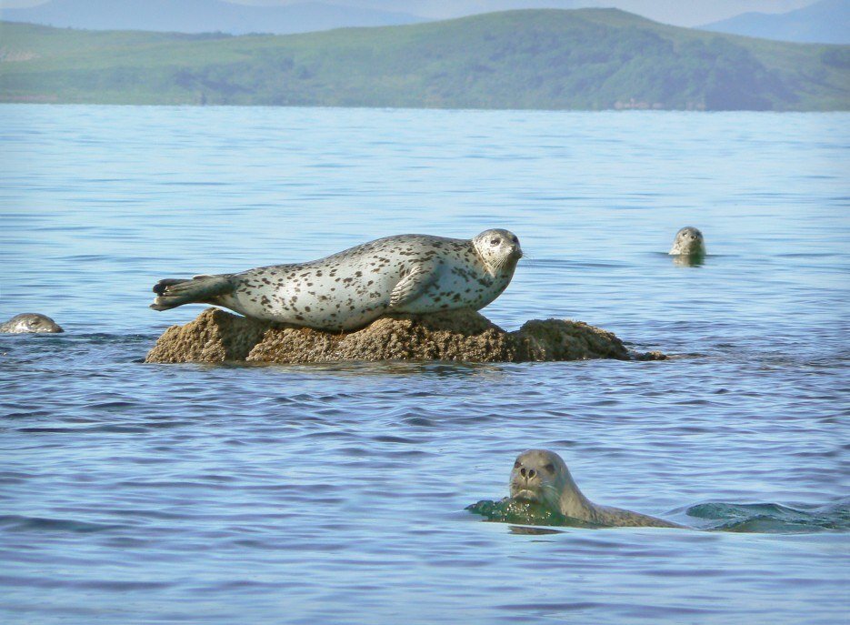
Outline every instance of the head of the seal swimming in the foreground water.
<path id="1" fill-rule="evenodd" d="M 513 499 L 533 501 L 558 510 L 567 485 L 573 485 L 569 469 L 553 451 L 529 449 L 514 462 L 510 484 Z"/>

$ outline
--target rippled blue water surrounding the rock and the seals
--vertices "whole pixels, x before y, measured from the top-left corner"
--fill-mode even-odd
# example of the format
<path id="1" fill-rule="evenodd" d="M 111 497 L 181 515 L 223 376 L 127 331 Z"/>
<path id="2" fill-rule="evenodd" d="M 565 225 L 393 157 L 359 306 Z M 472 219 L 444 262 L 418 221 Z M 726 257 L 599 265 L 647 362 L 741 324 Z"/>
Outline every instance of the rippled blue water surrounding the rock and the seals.
<path id="1" fill-rule="evenodd" d="M 848 122 L 0 106 L 0 318 L 66 330 L 0 336 L 0 620 L 843 622 Z M 161 277 L 487 227 L 526 253 L 496 323 L 681 358 L 141 362 L 202 309 L 148 309 Z M 532 447 L 696 529 L 465 511 Z"/>

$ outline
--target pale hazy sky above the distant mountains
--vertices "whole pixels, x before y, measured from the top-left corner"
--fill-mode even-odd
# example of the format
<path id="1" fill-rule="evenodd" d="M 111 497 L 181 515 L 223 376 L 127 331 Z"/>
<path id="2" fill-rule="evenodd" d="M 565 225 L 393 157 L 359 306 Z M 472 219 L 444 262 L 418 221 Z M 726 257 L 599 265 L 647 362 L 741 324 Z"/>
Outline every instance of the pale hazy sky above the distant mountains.
<path id="1" fill-rule="evenodd" d="M 0 8 L 34 6 L 46 0 L 0 0 Z M 308 0 L 227 0 L 243 5 L 294 5 Z M 785 13 L 815 0 L 319 0 L 327 4 L 400 11 L 435 19 L 517 8 L 615 6 L 665 24 L 694 26 L 748 11 Z M 179 2 L 179 0 L 175 0 Z"/>

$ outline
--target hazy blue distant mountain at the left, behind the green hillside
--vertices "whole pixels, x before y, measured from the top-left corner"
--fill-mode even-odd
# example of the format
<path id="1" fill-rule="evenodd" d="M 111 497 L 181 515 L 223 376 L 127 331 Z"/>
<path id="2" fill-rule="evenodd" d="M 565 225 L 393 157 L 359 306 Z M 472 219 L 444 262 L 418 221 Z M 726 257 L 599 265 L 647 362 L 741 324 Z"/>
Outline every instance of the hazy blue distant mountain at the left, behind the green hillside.
<path id="1" fill-rule="evenodd" d="M 415 24 L 425 18 L 319 2 L 285 6 L 235 5 L 221 0 L 51 0 L 2 9 L 10 22 L 94 30 L 285 35 L 345 26 Z"/>

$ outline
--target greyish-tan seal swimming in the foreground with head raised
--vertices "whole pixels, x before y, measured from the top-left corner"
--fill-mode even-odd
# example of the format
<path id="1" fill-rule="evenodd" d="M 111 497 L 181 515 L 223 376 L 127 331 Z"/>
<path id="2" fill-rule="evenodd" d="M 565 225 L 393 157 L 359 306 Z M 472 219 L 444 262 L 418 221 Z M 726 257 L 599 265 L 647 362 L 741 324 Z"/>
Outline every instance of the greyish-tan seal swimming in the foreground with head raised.
<path id="1" fill-rule="evenodd" d="M 620 508 L 599 506 L 575 486 L 565 462 L 553 451 L 529 449 L 511 471 L 511 498 L 539 503 L 565 517 L 607 527 L 681 528 L 663 519 Z"/>

